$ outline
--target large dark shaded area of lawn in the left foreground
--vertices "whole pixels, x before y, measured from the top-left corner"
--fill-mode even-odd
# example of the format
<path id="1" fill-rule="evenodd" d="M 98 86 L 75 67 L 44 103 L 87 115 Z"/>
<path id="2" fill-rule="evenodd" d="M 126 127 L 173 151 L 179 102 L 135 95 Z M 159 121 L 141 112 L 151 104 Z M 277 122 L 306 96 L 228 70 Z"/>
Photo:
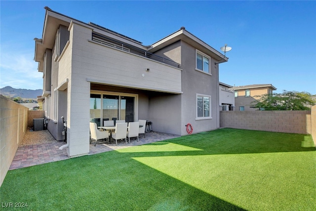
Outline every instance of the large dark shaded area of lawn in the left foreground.
<path id="1" fill-rule="evenodd" d="M 28 210 L 244 211 L 117 151 L 10 170 L 0 192 Z"/>

